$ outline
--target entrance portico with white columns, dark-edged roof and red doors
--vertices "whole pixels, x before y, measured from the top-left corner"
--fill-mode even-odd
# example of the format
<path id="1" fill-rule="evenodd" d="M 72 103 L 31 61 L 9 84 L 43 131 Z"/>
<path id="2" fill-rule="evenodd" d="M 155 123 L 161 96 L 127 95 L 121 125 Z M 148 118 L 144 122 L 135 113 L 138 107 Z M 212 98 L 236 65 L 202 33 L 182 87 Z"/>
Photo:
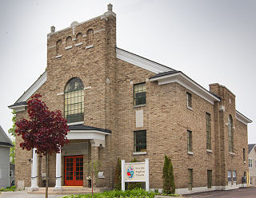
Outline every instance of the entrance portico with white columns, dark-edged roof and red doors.
<path id="1" fill-rule="evenodd" d="M 56 181 L 55 189 L 64 185 L 83 185 L 83 156 L 90 154 L 90 160 L 98 160 L 98 148 L 105 148 L 108 129 L 100 129 L 86 125 L 70 125 L 67 138 L 70 144 L 63 146 L 62 152 L 56 153 Z M 90 148 L 90 152 L 89 152 Z M 38 189 L 38 159 L 35 151 L 31 165 L 31 190 Z M 64 161 L 62 161 L 64 160 Z M 39 171 L 40 172 L 40 171 Z"/>

